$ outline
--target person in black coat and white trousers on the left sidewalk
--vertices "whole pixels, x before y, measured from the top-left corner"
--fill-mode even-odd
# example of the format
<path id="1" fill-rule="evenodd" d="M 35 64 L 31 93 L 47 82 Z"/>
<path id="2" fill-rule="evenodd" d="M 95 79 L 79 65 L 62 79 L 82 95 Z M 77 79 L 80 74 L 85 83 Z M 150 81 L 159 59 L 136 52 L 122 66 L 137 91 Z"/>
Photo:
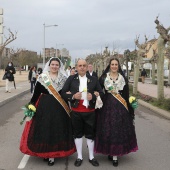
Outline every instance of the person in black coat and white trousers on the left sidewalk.
<path id="1" fill-rule="evenodd" d="M 8 62 L 8 65 L 5 68 L 5 75 L 6 75 L 6 86 L 5 86 L 5 93 L 11 93 L 11 88 L 13 86 L 14 81 L 14 74 L 16 73 L 14 65 L 12 62 Z"/>

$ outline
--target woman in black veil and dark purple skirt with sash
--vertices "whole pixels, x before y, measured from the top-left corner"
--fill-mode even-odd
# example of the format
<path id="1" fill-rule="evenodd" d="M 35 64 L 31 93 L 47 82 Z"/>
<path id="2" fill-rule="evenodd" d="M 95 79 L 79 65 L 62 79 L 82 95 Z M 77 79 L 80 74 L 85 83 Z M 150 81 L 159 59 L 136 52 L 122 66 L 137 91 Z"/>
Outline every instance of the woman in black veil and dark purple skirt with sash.
<path id="1" fill-rule="evenodd" d="M 128 82 L 117 58 L 110 60 L 99 81 L 105 95 L 103 107 L 97 110 L 95 152 L 108 155 L 113 166 L 118 166 L 117 157 L 137 151 L 138 146 Z"/>

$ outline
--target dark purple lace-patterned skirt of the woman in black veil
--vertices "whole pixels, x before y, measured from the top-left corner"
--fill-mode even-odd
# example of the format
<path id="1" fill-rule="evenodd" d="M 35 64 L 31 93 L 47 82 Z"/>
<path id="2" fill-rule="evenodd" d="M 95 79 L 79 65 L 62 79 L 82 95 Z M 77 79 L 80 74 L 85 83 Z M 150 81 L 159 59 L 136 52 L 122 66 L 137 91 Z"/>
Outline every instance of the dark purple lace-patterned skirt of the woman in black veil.
<path id="1" fill-rule="evenodd" d="M 96 111 L 95 152 L 121 156 L 138 150 L 135 126 L 126 108 L 112 94 L 105 94 L 103 107 Z"/>

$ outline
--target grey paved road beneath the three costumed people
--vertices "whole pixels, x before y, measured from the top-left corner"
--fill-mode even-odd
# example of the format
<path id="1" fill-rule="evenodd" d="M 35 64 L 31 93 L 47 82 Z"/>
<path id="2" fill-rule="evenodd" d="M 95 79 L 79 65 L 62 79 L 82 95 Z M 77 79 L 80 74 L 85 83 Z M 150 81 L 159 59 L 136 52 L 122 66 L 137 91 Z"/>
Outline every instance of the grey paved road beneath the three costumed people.
<path id="1" fill-rule="evenodd" d="M 20 107 L 23 103 L 29 101 L 30 97 L 31 95 L 27 94 L 0 107 L 1 121 L 4 122 L 0 126 L 0 170 L 17 170 L 24 157 L 24 154 L 19 151 L 19 141 L 24 128 L 24 126 L 19 125 L 19 121 L 23 117 L 23 112 L 13 106 Z M 8 113 L 8 116 L 4 116 L 5 113 Z M 69 158 L 56 159 L 53 167 L 47 166 L 40 158 L 24 157 L 29 158 L 24 170 L 169 170 L 170 120 L 139 106 L 136 110 L 135 124 L 139 151 L 119 158 L 117 168 L 114 168 L 107 157 L 103 155 L 96 155 L 100 163 L 98 168 L 89 164 L 86 141 L 84 140 L 84 162 L 81 167 L 74 166 L 76 159 L 76 154 L 74 154 Z"/>

